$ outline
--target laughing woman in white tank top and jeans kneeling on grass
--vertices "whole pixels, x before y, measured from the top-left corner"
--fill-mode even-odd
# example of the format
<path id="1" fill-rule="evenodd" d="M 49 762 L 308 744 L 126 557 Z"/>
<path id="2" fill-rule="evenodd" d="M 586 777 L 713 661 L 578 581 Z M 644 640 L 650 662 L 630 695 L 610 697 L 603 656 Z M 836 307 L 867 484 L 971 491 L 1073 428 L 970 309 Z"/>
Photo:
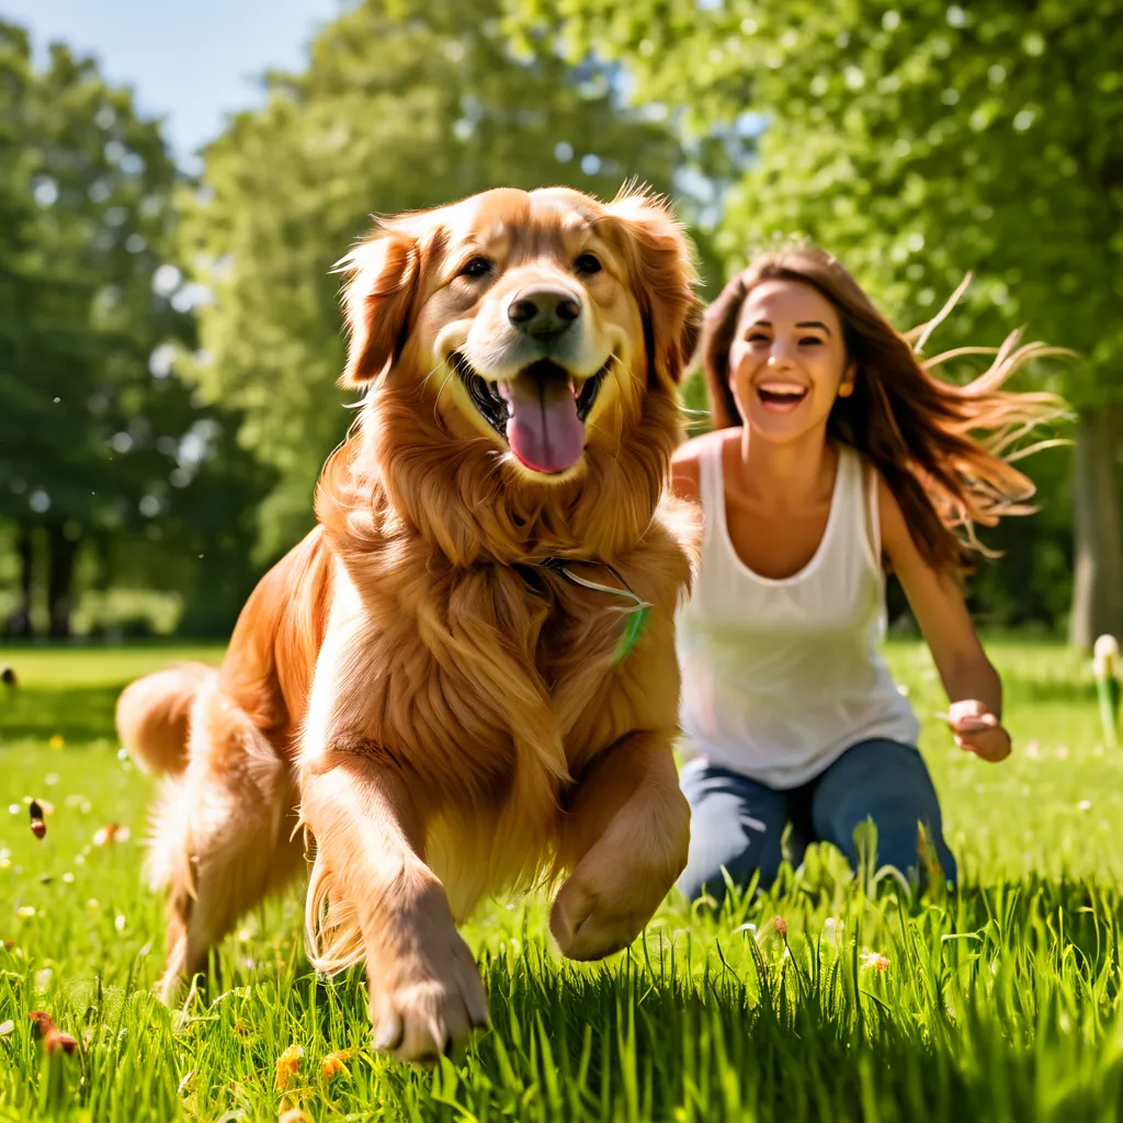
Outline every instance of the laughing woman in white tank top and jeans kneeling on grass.
<path id="1" fill-rule="evenodd" d="M 829 841 L 857 862 L 866 819 L 903 878 L 953 880 L 916 718 L 882 654 L 885 573 L 931 648 L 956 742 L 1003 759 L 1001 684 L 956 578 L 975 522 L 1030 510 L 1033 485 L 1002 454 L 1059 403 L 1002 383 L 1054 351 L 1012 337 L 970 385 L 941 382 L 929 369 L 940 358 L 922 364 L 850 274 L 810 248 L 734 277 L 702 350 L 719 431 L 675 456 L 676 490 L 706 513 L 678 629 L 694 757 L 681 884 L 692 897 L 722 895 L 724 873 L 767 886 L 788 822 L 796 853 Z"/>

